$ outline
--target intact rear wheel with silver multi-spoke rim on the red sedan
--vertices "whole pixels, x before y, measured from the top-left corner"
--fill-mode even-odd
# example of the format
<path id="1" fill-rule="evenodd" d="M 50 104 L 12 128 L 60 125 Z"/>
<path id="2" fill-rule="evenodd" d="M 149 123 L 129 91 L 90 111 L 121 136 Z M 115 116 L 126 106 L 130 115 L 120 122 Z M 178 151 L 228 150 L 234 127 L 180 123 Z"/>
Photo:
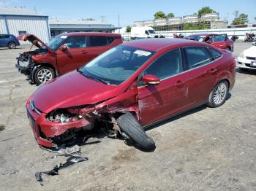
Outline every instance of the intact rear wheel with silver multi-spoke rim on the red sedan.
<path id="1" fill-rule="evenodd" d="M 224 89 L 225 88 L 225 92 Z M 218 107 L 225 103 L 227 99 L 227 93 L 228 93 L 228 84 L 227 81 L 222 80 L 217 85 L 214 86 L 214 88 L 211 90 L 211 93 L 208 97 L 207 105 L 211 107 Z M 220 96 L 218 100 L 218 95 Z"/>

